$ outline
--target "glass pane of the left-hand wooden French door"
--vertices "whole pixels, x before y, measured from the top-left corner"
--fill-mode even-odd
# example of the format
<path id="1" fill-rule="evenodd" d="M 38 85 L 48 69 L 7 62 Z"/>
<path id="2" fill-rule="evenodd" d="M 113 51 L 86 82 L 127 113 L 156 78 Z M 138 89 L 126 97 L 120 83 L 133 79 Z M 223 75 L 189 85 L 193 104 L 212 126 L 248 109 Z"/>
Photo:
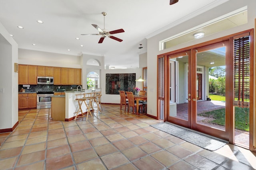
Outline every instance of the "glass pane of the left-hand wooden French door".
<path id="1" fill-rule="evenodd" d="M 170 55 L 169 58 L 169 111 L 167 121 L 189 126 L 188 63 L 190 51 Z M 190 114 L 191 115 L 191 114 Z"/>

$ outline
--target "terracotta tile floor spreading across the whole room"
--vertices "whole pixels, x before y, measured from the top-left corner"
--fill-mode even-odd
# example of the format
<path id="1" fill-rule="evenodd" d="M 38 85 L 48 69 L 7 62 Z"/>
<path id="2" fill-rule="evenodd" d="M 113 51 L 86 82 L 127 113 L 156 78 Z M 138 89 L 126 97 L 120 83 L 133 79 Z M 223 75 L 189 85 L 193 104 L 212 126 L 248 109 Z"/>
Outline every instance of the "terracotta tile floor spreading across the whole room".
<path id="1" fill-rule="evenodd" d="M 102 113 L 53 121 L 50 109 L 19 111 L 19 125 L 0 134 L 1 170 L 252 170 L 256 153 L 225 145 L 214 152 L 154 129 L 146 115 L 104 105 Z"/>

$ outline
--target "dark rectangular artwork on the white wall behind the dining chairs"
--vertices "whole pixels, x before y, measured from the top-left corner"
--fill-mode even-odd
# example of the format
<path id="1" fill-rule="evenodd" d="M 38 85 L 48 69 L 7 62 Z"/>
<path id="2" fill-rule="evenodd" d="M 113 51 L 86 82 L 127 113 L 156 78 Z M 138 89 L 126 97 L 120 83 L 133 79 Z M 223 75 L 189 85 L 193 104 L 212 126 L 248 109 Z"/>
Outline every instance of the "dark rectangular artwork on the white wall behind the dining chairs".
<path id="1" fill-rule="evenodd" d="M 136 73 L 106 74 L 106 94 L 119 94 L 119 90 L 133 92 Z"/>

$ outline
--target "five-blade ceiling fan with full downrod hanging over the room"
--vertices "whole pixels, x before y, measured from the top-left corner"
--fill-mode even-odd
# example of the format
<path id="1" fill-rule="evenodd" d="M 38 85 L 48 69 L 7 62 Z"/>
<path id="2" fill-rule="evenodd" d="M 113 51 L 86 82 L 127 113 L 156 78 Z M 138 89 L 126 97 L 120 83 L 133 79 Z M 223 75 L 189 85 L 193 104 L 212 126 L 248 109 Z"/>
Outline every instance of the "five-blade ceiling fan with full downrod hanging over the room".
<path id="1" fill-rule="evenodd" d="M 96 24 L 92 24 L 92 26 L 94 28 L 96 28 L 100 33 L 98 34 L 81 34 L 81 35 L 101 35 L 102 37 L 100 37 L 100 41 L 98 43 L 102 43 L 105 37 L 110 37 L 111 39 L 114 39 L 116 41 L 122 42 L 122 39 L 119 39 L 117 37 L 112 36 L 112 34 L 116 34 L 116 33 L 123 33 L 124 29 L 117 29 L 114 31 L 108 31 L 107 29 L 105 29 L 105 16 L 107 15 L 106 12 L 102 12 L 102 15 L 104 16 L 104 29 L 101 29 L 98 25 Z"/>

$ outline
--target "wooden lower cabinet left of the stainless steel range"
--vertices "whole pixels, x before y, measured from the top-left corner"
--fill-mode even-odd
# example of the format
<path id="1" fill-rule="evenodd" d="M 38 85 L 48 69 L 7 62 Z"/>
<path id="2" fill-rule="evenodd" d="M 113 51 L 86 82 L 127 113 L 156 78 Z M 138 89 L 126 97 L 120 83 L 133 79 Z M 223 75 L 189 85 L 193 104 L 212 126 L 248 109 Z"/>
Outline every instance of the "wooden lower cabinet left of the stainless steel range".
<path id="1" fill-rule="evenodd" d="M 19 109 L 36 108 L 36 93 L 19 94 Z"/>

